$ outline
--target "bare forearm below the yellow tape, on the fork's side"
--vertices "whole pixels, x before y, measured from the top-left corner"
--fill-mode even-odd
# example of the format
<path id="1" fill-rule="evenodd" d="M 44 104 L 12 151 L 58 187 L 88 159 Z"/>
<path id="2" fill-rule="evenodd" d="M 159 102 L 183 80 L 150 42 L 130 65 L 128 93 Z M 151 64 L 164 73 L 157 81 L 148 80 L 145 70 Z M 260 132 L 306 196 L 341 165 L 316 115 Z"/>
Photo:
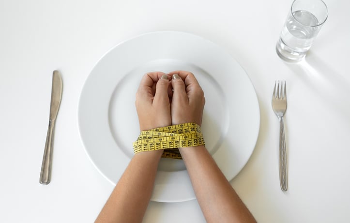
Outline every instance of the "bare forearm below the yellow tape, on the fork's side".
<path id="1" fill-rule="evenodd" d="M 180 152 L 207 222 L 255 222 L 204 146 Z"/>

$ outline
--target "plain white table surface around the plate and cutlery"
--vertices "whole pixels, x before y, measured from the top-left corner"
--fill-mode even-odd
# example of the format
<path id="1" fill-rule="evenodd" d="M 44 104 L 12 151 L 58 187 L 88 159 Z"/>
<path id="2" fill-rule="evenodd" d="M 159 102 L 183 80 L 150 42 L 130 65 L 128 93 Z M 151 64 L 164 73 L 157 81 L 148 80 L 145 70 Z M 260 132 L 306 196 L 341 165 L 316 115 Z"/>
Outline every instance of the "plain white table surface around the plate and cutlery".
<path id="1" fill-rule="evenodd" d="M 77 105 L 93 65 L 146 32 L 182 31 L 225 48 L 260 105 L 260 132 L 233 188 L 259 223 L 350 222 L 350 3 L 327 0 L 329 18 L 306 60 L 287 64 L 275 42 L 291 0 L 0 0 L 0 222 L 93 222 L 111 185 L 80 141 Z M 39 184 L 52 71 L 63 95 L 51 183 Z M 289 190 L 278 177 L 275 80 L 287 81 Z M 205 222 L 196 200 L 150 202 L 145 223 Z"/>

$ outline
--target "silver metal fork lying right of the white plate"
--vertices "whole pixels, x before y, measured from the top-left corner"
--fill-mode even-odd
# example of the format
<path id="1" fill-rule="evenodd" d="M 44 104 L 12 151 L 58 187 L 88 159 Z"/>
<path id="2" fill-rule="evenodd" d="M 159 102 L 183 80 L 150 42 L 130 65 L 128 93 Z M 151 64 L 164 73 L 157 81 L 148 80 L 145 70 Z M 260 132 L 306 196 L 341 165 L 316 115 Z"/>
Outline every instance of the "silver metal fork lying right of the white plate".
<path id="1" fill-rule="evenodd" d="M 286 81 L 276 81 L 272 95 L 272 109 L 279 119 L 279 181 L 282 191 L 287 191 L 287 152 L 284 135 L 283 115 L 287 110 Z"/>

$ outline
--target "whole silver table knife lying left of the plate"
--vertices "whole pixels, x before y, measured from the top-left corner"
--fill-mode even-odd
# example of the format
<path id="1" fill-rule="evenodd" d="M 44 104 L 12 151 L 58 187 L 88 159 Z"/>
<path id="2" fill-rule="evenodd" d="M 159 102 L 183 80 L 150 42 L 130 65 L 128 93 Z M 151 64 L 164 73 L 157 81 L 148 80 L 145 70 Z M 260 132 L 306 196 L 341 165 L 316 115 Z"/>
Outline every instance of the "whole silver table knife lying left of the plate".
<path id="1" fill-rule="evenodd" d="M 61 78 L 60 72 L 55 70 L 52 74 L 50 119 L 48 122 L 45 150 L 44 150 L 43 162 L 41 164 L 40 179 L 39 179 L 39 182 L 41 184 L 48 184 L 50 183 L 50 179 L 51 179 L 53 134 L 54 134 L 54 127 L 55 127 L 57 113 L 60 108 L 61 97 L 62 97 L 62 78 Z"/>

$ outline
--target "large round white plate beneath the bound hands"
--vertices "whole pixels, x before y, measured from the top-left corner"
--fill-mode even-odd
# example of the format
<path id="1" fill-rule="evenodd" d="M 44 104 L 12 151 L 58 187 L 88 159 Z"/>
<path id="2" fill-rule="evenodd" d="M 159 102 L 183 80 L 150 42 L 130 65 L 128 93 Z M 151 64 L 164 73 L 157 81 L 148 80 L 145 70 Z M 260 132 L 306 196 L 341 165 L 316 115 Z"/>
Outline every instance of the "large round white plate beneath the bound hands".
<path id="1" fill-rule="evenodd" d="M 183 32 L 152 32 L 107 52 L 92 69 L 78 106 L 80 137 L 92 163 L 116 184 L 139 135 L 135 94 L 151 71 L 187 70 L 202 86 L 206 147 L 228 180 L 251 156 L 259 134 L 259 103 L 243 68 L 223 49 Z M 182 160 L 161 159 L 152 201 L 195 199 Z"/>

